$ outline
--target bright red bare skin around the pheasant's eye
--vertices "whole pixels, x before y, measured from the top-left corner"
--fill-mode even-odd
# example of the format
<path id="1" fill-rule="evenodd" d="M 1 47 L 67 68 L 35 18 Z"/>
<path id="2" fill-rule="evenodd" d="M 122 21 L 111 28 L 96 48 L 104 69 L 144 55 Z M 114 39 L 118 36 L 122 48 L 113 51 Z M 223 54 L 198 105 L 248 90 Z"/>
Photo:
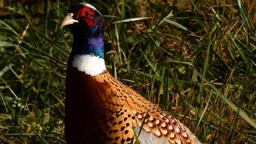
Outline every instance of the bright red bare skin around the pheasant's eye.
<path id="1" fill-rule="evenodd" d="M 78 10 L 77 19 L 82 18 L 88 26 L 92 26 L 94 24 L 94 11 L 89 7 L 83 7 Z"/>

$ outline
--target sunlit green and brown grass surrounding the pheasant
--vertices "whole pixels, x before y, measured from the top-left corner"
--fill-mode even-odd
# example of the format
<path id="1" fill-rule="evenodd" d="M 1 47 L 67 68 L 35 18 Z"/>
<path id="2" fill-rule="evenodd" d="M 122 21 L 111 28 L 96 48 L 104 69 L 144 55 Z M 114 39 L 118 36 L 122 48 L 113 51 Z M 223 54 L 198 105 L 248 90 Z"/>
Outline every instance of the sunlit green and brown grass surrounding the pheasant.
<path id="1" fill-rule="evenodd" d="M 74 0 L 0 0 L 0 143 L 64 143 L 59 24 Z M 86 1 L 105 18 L 108 70 L 205 143 L 256 142 L 254 0 Z M 81 110 L 86 112 L 86 110 Z"/>

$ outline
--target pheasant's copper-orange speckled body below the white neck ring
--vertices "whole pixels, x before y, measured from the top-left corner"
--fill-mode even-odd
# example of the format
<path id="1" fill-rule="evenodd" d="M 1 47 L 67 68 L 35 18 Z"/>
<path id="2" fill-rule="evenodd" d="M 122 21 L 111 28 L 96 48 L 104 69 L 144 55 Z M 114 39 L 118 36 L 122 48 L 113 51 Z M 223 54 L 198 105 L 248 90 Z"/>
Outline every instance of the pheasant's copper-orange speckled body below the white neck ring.
<path id="1" fill-rule="evenodd" d="M 197 141 L 176 118 L 107 71 L 92 77 L 70 67 L 67 75 L 66 86 L 71 88 L 66 91 L 66 134 L 70 142 L 135 143 L 136 136 L 141 143 Z"/>

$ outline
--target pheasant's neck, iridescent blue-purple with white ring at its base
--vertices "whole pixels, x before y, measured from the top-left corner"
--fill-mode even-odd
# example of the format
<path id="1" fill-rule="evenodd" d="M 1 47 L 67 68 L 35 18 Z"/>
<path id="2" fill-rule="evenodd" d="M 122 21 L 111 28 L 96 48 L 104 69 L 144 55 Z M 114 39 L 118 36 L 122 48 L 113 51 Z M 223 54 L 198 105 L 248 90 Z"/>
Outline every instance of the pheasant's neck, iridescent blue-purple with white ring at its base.
<path id="1" fill-rule="evenodd" d="M 96 76 L 106 70 L 104 61 L 103 32 L 91 34 L 74 34 L 70 65 L 88 75 Z M 95 36 L 96 35 L 96 36 Z"/>

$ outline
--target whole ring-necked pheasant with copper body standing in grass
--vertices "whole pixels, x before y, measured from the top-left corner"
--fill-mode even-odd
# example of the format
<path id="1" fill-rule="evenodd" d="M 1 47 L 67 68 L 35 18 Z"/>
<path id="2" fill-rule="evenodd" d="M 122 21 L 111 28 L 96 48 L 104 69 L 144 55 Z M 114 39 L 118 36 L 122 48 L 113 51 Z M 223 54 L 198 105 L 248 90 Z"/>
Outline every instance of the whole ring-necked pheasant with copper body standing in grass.
<path id="1" fill-rule="evenodd" d="M 62 25 L 74 35 L 67 64 L 67 143 L 201 143 L 176 118 L 113 78 L 104 61 L 102 14 L 71 5 Z"/>

